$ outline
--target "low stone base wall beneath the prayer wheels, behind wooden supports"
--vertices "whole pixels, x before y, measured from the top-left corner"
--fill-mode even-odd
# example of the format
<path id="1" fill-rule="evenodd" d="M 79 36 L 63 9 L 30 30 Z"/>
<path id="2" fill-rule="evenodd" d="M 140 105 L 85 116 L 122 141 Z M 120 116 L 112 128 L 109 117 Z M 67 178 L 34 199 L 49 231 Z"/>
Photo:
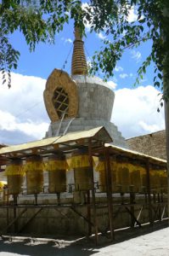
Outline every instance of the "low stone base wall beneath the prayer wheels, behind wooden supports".
<path id="1" fill-rule="evenodd" d="M 11 207 L 0 206 L 0 232 L 5 232 L 8 223 L 12 224 L 14 215 L 16 215 L 20 216 L 20 218 L 17 219 L 15 225 L 12 224 L 10 226 L 8 229 L 9 233 L 14 233 L 15 227 L 15 229 L 18 230 L 18 234 L 33 234 L 33 236 L 87 235 L 88 224 L 85 219 L 87 218 L 87 204 L 72 203 L 72 195 L 70 195 L 69 201 L 68 196 L 65 196 L 65 198 L 64 196 L 65 195 L 61 195 L 60 206 L 57 206 L 56 195 L 39 195 L 39 206 L 33 205 L 33 195 L 25 195 L 25 197 L 27 197 L 27 200 L 24 201 L 25 204 L 16 207 L 15 213 L 12 205 Z M 23 196 L 20 195 L 20 202 L 22 198 Z M 130 226 L 132 218 L 128 211 L 132 210 L 134 215 L 138 216 L 143 204 L 144 209 L 139 217 L 139 223 L 144 224 L 149 222 L 149 207 L 144 203 L 144 194 L 143 196 L 139 195 L 135 200 L 135 205 L 131 209 L 130 206 L 127 205 L 130 201 L 129 195 L 123 195 L 122 198 L 119 194 L 115 195 L 113 205 L 113 225 L 115 230 Z M 71 204 L 70 207 L 68 207 L 70 201 Z M 122 205 L 121 201 L 123 201 Z M 46 207 L 42 207 L 42 202 L 46 203 Z M 64 202 L 66 202 L 66 204 L 62 205 Z M 99 206 L 96 210 L 98 228 L 99 231 L 104 232 L 107 229 L 109 230 L 109 212 L 108 207 L 105 207 L 106 198 L 104 193 L 96 194 L 96 203 L 97 206 Z M 154 207 L 157 207 L 157 205 L 154 205 Z M 75 209 L 75 211 L 73 209 Z M 167 212 L 165 212 L 164 218 L 166 218 L 166 214 Z M 82 218 L 82 216 L 84 218 Z M 156 214 L 155 219 L 157 220 L 158 218 L 159 216 Z M 91 221 L 93 223 L 93 207 L 91 207 Z"/>

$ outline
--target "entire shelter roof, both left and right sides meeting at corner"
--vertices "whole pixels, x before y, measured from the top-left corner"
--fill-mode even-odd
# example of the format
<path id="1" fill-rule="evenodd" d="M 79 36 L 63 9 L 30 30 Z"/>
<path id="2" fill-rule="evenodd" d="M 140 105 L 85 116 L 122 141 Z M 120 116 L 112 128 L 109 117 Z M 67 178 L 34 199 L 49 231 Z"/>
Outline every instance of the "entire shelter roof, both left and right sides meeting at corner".
<path id="1" fill-rule="evenodd" d="M 75 149 L 87 148 L 90 143 L 93 152 L 97 152 L 98 155 L 104 154 L 104 148 L 109 148 L 110 155 L 132 159 L 133 161 L 144 161 L 144 163 L 149 160 L 153 165 L 166 168 L 166 160 L 138 153 L 127 148 L 117 147 L 110 144 L 111 142 L 112 139 L 103 126 L 88 131 L 70 132 L 64 136 L 49 137 L 31 143 L 0 148 L 0 166 L 5 165 L 8 159 L 24 159 L 32 154 L 41 154 L 42 156 L 48 156 L 57 152 L 69 154 Z"/>

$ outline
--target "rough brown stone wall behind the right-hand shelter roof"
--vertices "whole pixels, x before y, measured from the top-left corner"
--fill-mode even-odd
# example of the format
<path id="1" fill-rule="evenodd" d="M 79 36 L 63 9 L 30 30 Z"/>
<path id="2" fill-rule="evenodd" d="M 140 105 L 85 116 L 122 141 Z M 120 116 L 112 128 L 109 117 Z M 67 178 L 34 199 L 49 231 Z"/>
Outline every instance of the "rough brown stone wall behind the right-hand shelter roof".
<path id="1" fill-rule="evenodd" d="M 157 131 L 126 140 L 128 148 L 143 154 L 166 159 L 166 131 Z"/>

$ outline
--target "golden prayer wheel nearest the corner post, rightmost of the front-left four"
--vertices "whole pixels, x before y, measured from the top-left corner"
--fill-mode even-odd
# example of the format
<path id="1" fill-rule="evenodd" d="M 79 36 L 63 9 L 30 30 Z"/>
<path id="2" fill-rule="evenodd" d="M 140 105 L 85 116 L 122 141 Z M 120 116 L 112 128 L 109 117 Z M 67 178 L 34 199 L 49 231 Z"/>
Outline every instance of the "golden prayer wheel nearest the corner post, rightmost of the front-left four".
<path id="1" fill-rule="evenodd" d="M 75 189 L 93 189 L 93 170 L 91 169 L 87 150 L 79 149 L 70 158 L 70 169 L 74 169 Z"/>

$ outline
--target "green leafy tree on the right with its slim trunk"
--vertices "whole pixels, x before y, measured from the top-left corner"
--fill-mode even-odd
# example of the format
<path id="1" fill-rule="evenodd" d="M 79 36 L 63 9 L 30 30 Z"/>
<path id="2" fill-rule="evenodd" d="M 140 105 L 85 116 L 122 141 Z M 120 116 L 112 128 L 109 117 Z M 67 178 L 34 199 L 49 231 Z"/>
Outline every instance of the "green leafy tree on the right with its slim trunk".
<path id="1" fill-rule="evenodd" d="M 111 3 L 112 1 L 107 2 Z M 165 102 L 169 212 L 169 1 L 121 0 L 113 2 L 116 3 L 117 7 L 113 22 L 111 24 L 104 22 L 104 26 L 93 26 L 96 32 L 102 30 L 107 35 L 111 35 L 112 39 L 111 41 L 110 39 L 104 40 L 103 49 L 100 49 L 93 56 L 91 73 L 96 73 L 101 68 L 106 77 L 109 78 L 113 75 L 116 62 L 121 59 L 126 49 L 138 47 L 138 45 L 151 40 L 152 48 L 149 49 L 149 55 L 138 69 L 136 84 L 139 84 L 140 79 L 143 79 L 147 67 L 154 63 L 154 85 L 161 89 L 162 99 Z M 105 9 L 106 7 L 109 8 L 109 4 L 104 6 Z M 138 19 L 129 22 L 129 9 L 132 8 L 137 10 Z"/>

